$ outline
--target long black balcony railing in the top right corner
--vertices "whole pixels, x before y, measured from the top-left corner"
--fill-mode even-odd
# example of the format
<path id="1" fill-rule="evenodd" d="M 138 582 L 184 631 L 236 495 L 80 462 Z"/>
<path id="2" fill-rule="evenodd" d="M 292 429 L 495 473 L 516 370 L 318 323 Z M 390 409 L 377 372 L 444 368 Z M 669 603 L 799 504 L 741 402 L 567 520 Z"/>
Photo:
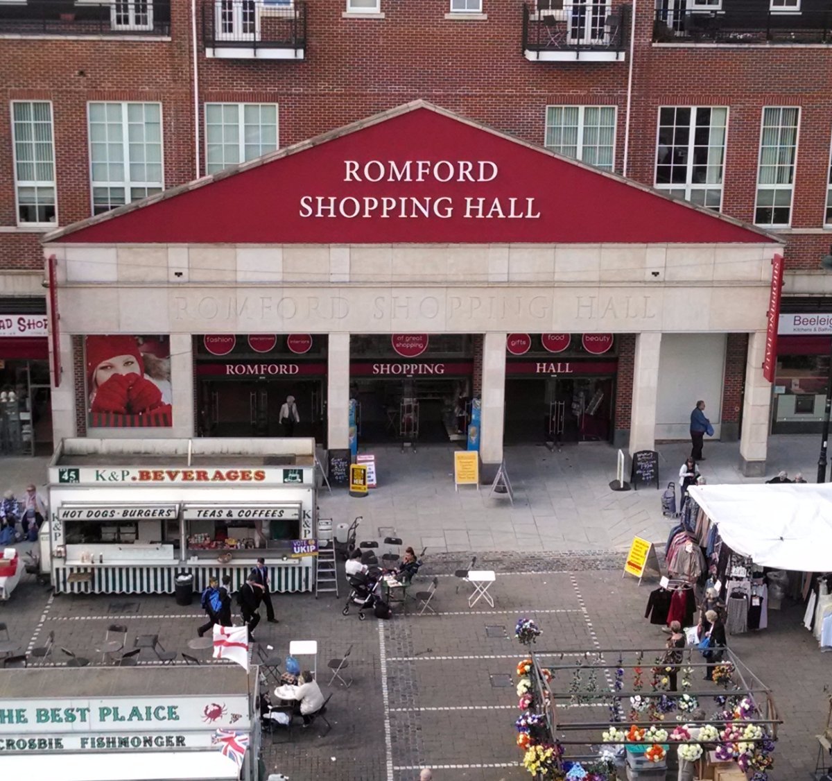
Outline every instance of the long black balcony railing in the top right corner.
<path id="1" fill-rule="evenodd" d="M 832 43 L 832 8 L 825 11 L 656 10 L 656 43 Z"/>

